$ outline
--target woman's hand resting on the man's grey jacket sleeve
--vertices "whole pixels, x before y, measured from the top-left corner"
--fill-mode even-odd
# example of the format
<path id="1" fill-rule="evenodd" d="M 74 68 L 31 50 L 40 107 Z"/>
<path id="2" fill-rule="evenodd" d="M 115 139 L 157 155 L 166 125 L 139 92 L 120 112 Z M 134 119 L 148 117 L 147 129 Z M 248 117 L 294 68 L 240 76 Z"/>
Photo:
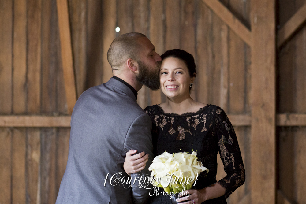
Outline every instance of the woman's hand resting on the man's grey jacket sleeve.
<path id="1" fill-rule="evenodd" d="M 137 150 L 129 150 L 125 155 L 125 161 L 123 164 L 123 168 L 125 172 L 129 175 L 143 170 L 149 159 L 149 154 L 145 155 L 144 152 L 135 154 L 136 152 Z M 132 154 L 135 154 L 135 155 L 132 155 Z"/>

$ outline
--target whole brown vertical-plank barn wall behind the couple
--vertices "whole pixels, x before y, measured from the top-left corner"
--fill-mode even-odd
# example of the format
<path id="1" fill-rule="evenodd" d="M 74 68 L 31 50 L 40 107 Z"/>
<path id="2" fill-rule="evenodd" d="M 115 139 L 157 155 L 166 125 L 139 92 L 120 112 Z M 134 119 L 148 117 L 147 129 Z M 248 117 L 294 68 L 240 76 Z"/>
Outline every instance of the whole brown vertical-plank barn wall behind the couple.
<path id="1" fill-rule="evenodd" d="M 251 0 L 218 1 L 251 30 Z M 305 3 L 276 1 L 278 28 Z M 120 34 L 141 32 L 159 54 L 180 48 L 195 57 L 198 74 L 192 97 L 249 119 L 234 127 L 246 181 L 228 203 L 251 203 L 255 187 L 251 186 L 250 42 L 245 43 L 202 0 L 68 0 L 68 9 L 77 97 L 112 76 L 106 53 Z M 0 1 L 1 115 L 69 117 L 57 16 L 56 0 Z M 285 113 L 306 113 L 305 56 L 304 26 L 277 50 L 276 113 L 282 118 Z M 165 101 L 161 91 L 143 87 L 138 93 L 143 108 Z M 65 127 L 66 123 L 64 127 L 0 128 L 1 204 L 55 202 L 68 157 L 70 129 Z M 276 200 L 305 203 L 306 128 L 278 127 L 276 132 Z M 218 164 L 220 179 L 225 172 L 219 158 Z"/>

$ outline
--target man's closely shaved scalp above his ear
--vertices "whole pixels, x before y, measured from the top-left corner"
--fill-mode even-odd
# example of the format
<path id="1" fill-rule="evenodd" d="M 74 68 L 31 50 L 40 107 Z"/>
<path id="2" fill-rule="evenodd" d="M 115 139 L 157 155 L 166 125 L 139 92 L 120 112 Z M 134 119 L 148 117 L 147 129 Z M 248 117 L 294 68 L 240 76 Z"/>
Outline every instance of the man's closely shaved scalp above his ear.
<path id="1" fill-rule="evenodd" d="M 125 33 L 114 39 L 107 52 L 107 61 L 112 69 L 117 69 L 125 64 L 129 58 L 138 61 L 141 51 L 140 38 L 147 37 L 141 33 Z"/>

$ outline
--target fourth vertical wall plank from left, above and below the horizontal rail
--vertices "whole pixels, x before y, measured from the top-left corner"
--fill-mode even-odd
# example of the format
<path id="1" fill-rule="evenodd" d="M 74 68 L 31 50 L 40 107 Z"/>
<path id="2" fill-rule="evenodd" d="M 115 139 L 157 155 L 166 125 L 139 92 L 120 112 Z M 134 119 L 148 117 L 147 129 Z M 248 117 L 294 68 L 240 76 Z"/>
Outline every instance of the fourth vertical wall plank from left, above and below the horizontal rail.
<path id="1" fill-rule="evenodd" d="M 42 5 L 42 106 L 45 114 L 57 110 L 58 65 L 58 16 L 56 0 L 43 1 Z M 41 129 L 40 202 L 55 203 L 55 128 Z"/>

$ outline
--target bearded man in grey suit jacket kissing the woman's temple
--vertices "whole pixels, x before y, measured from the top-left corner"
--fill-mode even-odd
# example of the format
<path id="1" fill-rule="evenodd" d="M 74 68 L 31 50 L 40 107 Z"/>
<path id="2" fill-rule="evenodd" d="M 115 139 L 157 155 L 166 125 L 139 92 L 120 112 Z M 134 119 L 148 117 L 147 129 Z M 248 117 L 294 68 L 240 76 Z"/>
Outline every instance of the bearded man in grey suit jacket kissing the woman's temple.
<path id="1" fill-rule="evenodd" d="M 129 178 L 123 164 L 132 149 L 149 154 L 145 169 L 137 174 L 150 175 L 152 124 L 136 98 L 143 84 L 159 88 L 161 57 L 145 35 L 127 33 L 114 39 L 107 59 L 114 76 L 85 91 L 74 106 L 68 162 L 57 204 L 147 203 L 150 190 L 135 187 L 139 184 L 136 174 L 131 174 L 132 187 L 110 180 L 113 175 L 120 177 L 119 172 L 121 178 Z"/>

